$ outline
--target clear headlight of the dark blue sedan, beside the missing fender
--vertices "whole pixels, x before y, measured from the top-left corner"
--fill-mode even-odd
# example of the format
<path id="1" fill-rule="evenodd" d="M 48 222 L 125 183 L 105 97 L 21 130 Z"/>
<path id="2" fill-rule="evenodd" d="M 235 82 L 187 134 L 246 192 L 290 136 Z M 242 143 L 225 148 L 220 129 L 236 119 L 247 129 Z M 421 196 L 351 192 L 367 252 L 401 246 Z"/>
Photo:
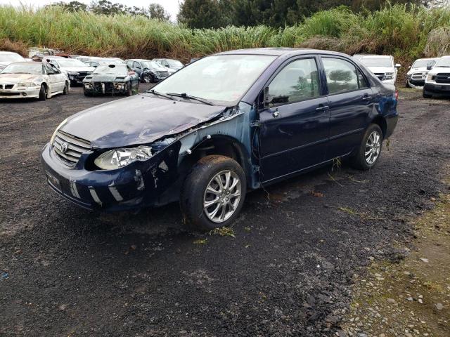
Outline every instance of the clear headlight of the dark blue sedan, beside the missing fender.
<path id="1" fill-rule="evenodd" d="M 94 164 L 103 170 L 115 170 L 134 161 L 144 161 L 152 157 L 152 147 L 139 146 L 110 150 L 98 156 Z"/>

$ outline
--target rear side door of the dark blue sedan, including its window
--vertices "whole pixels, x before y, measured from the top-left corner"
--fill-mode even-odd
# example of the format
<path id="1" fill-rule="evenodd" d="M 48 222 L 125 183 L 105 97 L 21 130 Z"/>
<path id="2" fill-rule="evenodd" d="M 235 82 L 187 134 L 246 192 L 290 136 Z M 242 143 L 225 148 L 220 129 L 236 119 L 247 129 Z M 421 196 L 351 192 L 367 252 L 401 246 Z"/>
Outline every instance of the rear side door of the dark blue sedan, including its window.
<path id="1" fill-rule="evenodd" d="M 322 56 L 330 105 L 330 144 L 326 159 L 341 157 L 359 146 L 373 110 L 373 91 L 354 62 Z"/>

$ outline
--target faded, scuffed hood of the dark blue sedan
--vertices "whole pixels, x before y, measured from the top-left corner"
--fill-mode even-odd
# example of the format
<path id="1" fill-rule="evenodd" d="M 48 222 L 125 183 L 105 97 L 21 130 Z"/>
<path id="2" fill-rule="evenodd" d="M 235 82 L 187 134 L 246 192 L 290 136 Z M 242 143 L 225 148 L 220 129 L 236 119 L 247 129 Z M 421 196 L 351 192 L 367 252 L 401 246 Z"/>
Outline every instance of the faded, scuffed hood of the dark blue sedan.
<path id="1" fill-rule="evenodd" d="M 60 130 L 112 148 L 152 143 L 218 117 L 226 107 L 134 95 L 79 112 Z"/>

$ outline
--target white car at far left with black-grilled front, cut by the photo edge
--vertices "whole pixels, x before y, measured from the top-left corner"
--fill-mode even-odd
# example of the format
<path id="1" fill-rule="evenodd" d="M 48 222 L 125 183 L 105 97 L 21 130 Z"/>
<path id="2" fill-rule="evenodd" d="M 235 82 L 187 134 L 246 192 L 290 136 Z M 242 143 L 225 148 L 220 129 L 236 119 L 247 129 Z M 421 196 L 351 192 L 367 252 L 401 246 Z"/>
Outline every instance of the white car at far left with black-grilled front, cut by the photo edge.
<path id="1" fill-rule="evenodd" d="M 14 62 L 0 72 L 0 98 L 39 98 L 68 94 L 70 81 L 55 67 L 42 62 Z"/>

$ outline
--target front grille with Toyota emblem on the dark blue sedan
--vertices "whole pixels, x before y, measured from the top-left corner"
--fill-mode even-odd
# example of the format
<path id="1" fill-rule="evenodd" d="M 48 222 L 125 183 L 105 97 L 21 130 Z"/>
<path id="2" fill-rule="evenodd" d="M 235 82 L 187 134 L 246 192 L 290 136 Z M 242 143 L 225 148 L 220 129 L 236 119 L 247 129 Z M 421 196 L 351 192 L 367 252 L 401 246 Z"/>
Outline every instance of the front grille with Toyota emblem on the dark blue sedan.
<path id="1" fill-rule="evenodd" d="M 63 151 L 63 144 L 67 146 L 67 150 Z M 91 143 L 82 138 L 77 138 L 63 131 L 56 132 L 55 140 L 53 140 L 53 149 L 56 154 L 63 159 L 65 164 L 75 166 L 79 157 L 84 152 L 91 150 Z"/>

